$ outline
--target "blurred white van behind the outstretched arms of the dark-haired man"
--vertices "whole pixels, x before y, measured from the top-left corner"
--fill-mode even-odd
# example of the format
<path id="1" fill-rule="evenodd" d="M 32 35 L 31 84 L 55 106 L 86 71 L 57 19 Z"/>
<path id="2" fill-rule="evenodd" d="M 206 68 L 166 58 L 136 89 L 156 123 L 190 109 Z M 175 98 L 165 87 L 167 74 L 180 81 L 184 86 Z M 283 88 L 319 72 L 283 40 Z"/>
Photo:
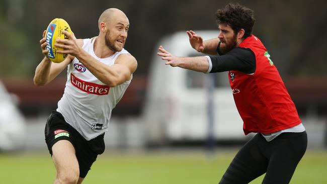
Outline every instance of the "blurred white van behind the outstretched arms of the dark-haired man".
<path id="1" fill-rule="evenodd" d="M 218 31 L 196 31 L 204 40 Z M 158 42 L 175 56 L 198 56 L 186 32 L 177 32 Z M 146 140 L 149 144 L 205 141 L 209 132 L 206 81 L 215 75 L 213 134 L 215 140 L 243 141 L 242 120 L 237 112 L 227 72 L 205 74 L 165 65 L 156 52 L 150 63 L 144 106 Z"/>

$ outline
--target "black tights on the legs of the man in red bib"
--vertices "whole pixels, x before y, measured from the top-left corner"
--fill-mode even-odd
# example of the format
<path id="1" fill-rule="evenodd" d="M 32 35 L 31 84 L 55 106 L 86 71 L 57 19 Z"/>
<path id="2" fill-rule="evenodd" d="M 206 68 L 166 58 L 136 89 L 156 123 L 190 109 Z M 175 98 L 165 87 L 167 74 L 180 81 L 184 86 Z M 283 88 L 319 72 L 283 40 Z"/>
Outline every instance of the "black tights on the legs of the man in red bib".
<path id="1" fill-rule="evenodd" d="M 270 142 L 258 133 L 238 151 L 219 183 L 249 183 L 264 173 L 264 184 L 289 183 L 306 146 L 305 131 L 282 133 Z"/>

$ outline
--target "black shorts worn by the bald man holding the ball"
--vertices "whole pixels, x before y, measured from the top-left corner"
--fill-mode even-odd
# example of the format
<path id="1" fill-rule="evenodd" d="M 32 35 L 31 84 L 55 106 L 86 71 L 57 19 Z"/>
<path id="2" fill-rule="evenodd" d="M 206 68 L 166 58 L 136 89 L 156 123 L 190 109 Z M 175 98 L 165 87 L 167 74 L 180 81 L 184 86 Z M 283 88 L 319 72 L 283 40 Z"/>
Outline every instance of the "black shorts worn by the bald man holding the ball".
<path id="1" fill-rule="evenodd" d="M 45 142 L 52 156 L 52 146 L 60 140 L 68 140 L 75 148 L 79 165 L 79 177 L 85 177 L 97 156 L 105 150 L 104 134 L 87 141 L 73 127 L 65 122 L 63 116 L 52 111 L 49 116 L 45 130 Z"/>

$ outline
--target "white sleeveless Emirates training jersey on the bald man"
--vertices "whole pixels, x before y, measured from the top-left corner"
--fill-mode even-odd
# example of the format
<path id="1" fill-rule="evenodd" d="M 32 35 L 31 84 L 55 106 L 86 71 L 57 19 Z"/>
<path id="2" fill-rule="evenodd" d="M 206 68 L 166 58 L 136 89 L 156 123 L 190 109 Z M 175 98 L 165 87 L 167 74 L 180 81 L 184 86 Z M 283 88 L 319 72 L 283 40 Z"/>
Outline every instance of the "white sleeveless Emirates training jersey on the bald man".
<path id="1" fill-rule="evenodd" d="M 111 66 L 123 49 L 107 58 L 99 58 L 93 50 L 96 39 L 84 39 L 83 49 L 98 61 Z M 68 64 L 64 94 L 58 102 L 57 111 L 65 121 L 86 140 L 91 140 L 108 131 L 111 111 L 120 101 L 131 80 L 109 87 L 94 76 L 77 58 Z"/>

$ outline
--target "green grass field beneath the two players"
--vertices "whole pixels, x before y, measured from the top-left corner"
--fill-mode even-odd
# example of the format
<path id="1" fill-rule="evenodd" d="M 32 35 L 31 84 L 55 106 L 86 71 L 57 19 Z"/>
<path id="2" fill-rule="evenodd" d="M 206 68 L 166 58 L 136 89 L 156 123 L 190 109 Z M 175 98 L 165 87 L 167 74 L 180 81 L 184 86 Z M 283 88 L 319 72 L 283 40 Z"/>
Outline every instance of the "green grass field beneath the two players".
<path id="1" fill-rule="evenodd" d="M 124 153 L 107 150 L 92 166 L 83 183 L 199 184 L 218 183 L 236 150 L 207 157 L 201 151 Z M 291 183 L 327 183 L 327 151 L 308 150 Z M 55 174 L 50 156 L 29 152 L 0 154 L 0 183 L 52 183 Z M 263 176 L 252 181 L 261 183 Z"/>

